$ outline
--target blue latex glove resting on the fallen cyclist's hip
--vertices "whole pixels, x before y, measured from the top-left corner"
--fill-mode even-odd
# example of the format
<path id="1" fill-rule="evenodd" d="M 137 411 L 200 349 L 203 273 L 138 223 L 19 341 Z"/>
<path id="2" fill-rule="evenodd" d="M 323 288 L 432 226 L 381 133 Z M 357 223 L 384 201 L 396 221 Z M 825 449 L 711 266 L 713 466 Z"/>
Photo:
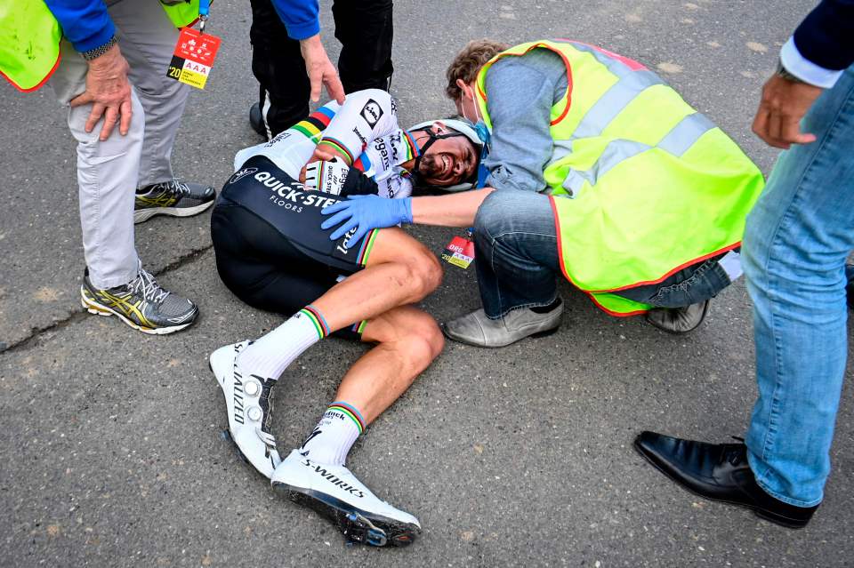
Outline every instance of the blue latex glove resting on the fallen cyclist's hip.
<path id="1" fill-rule="evenodd" d="M 347 242 L 352 247 L 359 243 L 363 236 L 372 228 L 394 227 L 398 223 L 412 222 L 412 199 L 387 199 L 380 196 L 350 196 L 346 201 L 326 205 L 321 211 L 324 215 L 332 215 L 323 221 L 320 228 L 336 228 L 330 240 L 336 241 L 350 230 L 356 228 L 353 236 Z M 334 213 L 334 215 L 333 215 Z"/>

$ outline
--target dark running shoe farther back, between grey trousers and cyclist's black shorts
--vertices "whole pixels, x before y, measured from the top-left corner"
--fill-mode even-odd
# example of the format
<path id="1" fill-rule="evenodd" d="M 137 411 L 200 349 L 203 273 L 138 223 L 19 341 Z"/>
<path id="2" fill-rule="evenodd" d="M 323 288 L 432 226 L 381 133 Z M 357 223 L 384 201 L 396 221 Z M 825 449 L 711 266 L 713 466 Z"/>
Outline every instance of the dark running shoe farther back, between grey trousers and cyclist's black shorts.
<path id="1" fill-rule="evenodd" d="M 196 215 L 213 205 L 215 198 L 214 188 L 201 183 L 184 183 L 179 180 L 155 183 L 136 190 L 133 222 L 141 223 L 155 215 Z"/>

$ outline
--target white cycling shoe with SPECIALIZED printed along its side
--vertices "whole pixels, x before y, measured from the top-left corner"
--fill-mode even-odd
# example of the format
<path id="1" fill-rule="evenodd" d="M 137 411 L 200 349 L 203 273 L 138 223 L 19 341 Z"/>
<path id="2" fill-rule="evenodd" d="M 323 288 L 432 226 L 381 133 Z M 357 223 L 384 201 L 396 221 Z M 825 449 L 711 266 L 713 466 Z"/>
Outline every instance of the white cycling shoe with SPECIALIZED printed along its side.
<path id="1" fill-rule="evenodd" d="M 270 477 L 282 462 L 276 449 L 276 438 L 270 434 L 270 388 L 276 381 L 240 372 L 238 354 L 249 343 L 241 341 L 214 351 L 211 354 L 211 371 L 225 395 L 231 440 L 237 444 L 244 460 L 262 476 Z"/>

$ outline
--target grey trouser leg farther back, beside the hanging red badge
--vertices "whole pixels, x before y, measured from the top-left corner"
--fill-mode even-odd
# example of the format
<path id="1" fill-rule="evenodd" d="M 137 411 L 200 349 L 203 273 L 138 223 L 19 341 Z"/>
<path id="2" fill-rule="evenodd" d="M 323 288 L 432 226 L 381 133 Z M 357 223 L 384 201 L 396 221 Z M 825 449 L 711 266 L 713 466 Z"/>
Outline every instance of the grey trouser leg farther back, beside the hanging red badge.
<path id="1" fill-rule="evenodd" d="M 131 0 L 109 6 L 118 44 L 130 65 L 133 88 L 145 109 L 138 186 L 173 179 L 172 147 L 189 96 L 189 85 L 166 76 L 178 29 L 166 13 Z M 142 115 L 133 116 L 134 120 Z"/>

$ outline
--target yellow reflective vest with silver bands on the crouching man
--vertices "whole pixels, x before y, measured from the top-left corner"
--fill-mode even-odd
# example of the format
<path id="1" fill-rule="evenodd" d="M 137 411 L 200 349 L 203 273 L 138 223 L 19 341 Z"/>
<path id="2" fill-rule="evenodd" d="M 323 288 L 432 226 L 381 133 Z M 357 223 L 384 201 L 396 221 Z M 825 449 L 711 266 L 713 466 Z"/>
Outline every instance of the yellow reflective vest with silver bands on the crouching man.
<path id="1" fill-rule="evenodd" d="M 761 172 L 648 68 L 569 40 L 517 45 L 480 70 L 476 97 L 490 130 L 490 66 L 540 48 L 567 66 L 544 170 L 563 274 L 611 315 L 643 313 L 651 306 L 610 292 L 662 282 L 736 248 Z"/>

